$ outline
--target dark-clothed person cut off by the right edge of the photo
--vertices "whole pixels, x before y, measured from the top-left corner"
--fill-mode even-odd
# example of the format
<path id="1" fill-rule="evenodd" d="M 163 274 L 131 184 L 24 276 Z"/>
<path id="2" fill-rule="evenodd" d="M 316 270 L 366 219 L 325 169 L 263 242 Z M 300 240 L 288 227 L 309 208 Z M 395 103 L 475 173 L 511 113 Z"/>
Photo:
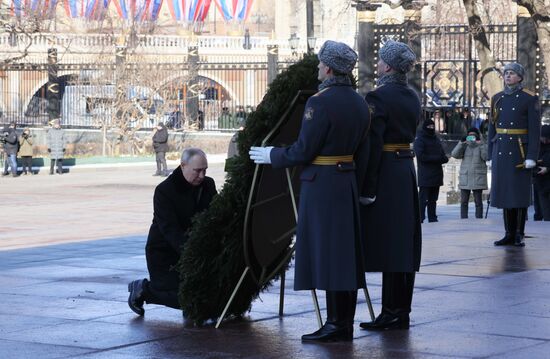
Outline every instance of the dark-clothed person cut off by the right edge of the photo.
<path id="1" fill-rule="evenodd" d="M 539 198 L 542 219 L 550 221 L 550 125 L 540 131 L 540 155 L 533 179 Z"/>

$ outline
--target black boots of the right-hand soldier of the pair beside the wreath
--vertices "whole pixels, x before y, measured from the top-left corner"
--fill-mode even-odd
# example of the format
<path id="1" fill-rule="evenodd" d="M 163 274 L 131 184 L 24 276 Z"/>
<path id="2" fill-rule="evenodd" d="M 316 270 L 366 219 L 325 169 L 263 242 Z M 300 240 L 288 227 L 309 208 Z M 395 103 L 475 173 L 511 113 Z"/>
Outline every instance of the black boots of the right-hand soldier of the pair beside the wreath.
<path id="1" fill-rule="evenodd" d="M 361 323 L 366 330 L 409 329 L 412 292 L 414 290 L 413 273 L 382 274 L 382 313 L 373 322 Z"/>

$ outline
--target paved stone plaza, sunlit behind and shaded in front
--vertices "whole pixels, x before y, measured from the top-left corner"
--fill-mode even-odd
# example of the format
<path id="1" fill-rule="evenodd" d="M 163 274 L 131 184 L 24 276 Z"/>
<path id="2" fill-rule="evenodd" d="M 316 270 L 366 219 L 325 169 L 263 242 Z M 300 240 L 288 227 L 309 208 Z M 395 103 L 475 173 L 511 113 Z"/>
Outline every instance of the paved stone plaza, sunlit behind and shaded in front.
<path id="1" fill-rule="evenodd" d="M 209 169 L 219 187 L 222 157 Z M 278 283 L 246 320 L 220 329 L 192 327 L 179 311 L 153 305 L 137 317 L 127 283 L 147 276 L 152 194 L 162 180 L 153 169 L 151 162 L 0 179 L 0 357 L 549 357 L 550 224 L 528 221 L 525 248 L 495 248 L 502 235 L 495 209 L 487 220 L 459 220 L 458 206 L 440 206 L 440 222 L 423 225 L 409 331 L 359 330 L 369 318 L 360 295 L 352 343 L 302 344 L 317 323 L 309 293 L 291 290 L 293 269 L 283 318 Z M 381 276 L 367 280 L 378 311 Z"/>

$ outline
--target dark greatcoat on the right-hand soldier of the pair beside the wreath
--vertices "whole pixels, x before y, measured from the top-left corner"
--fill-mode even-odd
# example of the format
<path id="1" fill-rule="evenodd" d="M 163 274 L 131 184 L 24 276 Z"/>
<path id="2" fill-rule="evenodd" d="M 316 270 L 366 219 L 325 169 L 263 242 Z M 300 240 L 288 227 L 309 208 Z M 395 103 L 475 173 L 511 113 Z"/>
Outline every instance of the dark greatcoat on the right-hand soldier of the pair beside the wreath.
<path id="1" fill-rule="evenodd" d="M 383 151 L 384 144 L 414 141 L 420 121 L 420 99 L 406 84 L 379 86 L 367 94 L 373 110 L 370 154 L 362 206 L 368 272 L 414 272 L 420 268 L 422 233 L 413 157 Z M 406 152 L 406 151 L 405 151 Z"/>

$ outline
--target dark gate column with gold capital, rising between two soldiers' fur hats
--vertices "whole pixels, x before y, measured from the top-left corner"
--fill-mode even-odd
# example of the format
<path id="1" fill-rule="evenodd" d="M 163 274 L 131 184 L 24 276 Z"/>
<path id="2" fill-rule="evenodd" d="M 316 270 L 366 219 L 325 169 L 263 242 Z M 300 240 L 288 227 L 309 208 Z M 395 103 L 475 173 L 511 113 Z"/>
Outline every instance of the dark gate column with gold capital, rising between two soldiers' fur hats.
<path id="1" fill-rule="evenodd" d="M 376 9 L 381 5 L 358 3 L 357 9 L 357 53 L 359 55 L 359 81 L 357 88 L 361 96 L 374 89 L 377 60 L 374 60 L 374 21 Z"/>

